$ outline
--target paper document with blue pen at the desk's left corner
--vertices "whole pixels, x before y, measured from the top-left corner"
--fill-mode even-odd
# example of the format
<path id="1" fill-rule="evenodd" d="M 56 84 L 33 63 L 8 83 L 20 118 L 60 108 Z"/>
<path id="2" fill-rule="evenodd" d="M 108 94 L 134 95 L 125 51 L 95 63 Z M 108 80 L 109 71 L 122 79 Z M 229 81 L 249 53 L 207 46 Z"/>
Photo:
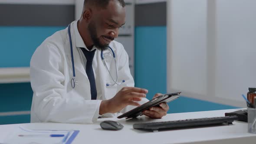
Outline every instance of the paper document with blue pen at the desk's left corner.
<path id="1" fill-rule="evenodd" d="M 4 144 L 72 144 L 79 131 L 30 130 L 23 127 L 8 135 Z"/>

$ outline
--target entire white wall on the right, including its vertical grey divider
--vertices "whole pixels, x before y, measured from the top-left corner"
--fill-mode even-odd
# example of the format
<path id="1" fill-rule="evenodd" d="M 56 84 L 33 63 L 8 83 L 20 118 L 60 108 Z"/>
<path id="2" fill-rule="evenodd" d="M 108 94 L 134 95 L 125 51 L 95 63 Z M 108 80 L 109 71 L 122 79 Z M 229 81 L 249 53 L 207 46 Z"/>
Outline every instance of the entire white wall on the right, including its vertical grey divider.
<path id="1" fill-rule="evenodd" d="M 256 87 L 255 0 L 167 1 L 167 91 L 246 107 Z"/>

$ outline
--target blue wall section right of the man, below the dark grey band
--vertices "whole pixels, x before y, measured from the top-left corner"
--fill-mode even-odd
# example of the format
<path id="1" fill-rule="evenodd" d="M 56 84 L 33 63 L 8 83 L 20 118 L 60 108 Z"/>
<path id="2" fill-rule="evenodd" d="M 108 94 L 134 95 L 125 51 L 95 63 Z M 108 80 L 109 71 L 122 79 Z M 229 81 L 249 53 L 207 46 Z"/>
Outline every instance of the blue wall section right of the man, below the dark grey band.
<path id="1" fill-rule="evenodd" d="M 166 26 L 135 27 L 135 86 L 166 93 Z"/>

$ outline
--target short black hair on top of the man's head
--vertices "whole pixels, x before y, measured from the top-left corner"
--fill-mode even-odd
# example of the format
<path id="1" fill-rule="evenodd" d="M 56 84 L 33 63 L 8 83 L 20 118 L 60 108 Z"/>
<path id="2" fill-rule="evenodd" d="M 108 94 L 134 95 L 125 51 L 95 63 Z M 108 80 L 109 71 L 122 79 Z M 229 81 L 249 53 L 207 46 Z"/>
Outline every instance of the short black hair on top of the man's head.
<path id="1" fill-rule="evenodd" d="M 92 4 L 96 7 L 100 7 L 102 9 L 105 9 L 108 6 L 109 1 L 111 1 L 111 0 L 85 0 L 84 7 L 87 4 Z M 122 7 L 125 7 L 125 1 L 124 0 L 117 0 L 117 1 L 121 4 Z"/>

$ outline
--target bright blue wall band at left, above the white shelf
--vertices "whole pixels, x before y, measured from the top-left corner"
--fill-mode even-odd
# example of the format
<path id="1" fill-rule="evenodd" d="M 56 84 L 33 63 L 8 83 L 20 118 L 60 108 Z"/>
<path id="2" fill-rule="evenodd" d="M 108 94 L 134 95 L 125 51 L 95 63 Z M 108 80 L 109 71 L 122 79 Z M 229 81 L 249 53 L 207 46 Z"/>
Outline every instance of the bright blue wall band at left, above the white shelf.
<path id="1" fill-rule="evenodd" d="M 27 67 L 36 48 L 63 26 L 0 26 L 0 67 Z"/>

